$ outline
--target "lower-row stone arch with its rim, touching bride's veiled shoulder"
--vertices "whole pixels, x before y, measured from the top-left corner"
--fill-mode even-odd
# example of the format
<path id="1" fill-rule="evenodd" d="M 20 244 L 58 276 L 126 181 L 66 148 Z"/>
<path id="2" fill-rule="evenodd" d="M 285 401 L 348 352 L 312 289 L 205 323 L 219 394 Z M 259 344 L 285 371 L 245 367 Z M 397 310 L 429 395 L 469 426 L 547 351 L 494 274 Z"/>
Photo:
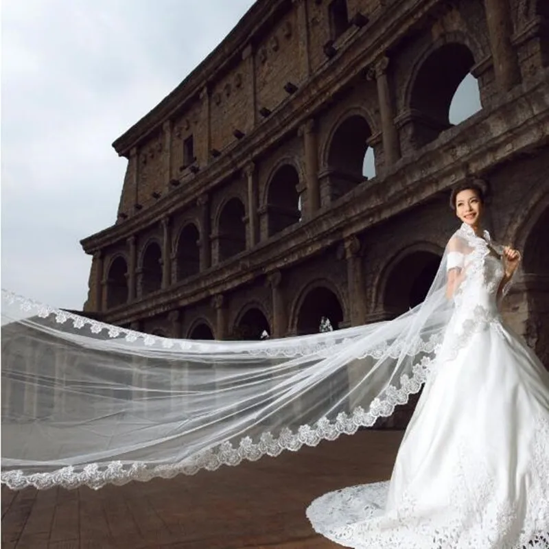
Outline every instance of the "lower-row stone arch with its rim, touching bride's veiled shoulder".
<path id="1" fill-rule="evenodd" d="M 377 304 L 398 316 L 425 299 L 444 250 L 430 242 L 418 242 L 400 250 L 379 274 Z"/>

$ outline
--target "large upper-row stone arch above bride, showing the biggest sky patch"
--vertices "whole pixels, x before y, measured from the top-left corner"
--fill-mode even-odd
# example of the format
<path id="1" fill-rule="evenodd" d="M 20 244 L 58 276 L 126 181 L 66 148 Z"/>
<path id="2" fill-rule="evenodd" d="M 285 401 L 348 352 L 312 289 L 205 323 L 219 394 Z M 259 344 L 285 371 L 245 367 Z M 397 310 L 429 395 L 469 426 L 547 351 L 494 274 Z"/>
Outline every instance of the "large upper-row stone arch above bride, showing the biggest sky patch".
<path id="1" fill-rule="evenodd" d="M 453 126 L 449 119 L 452 100 L 480 58 L 482 49 L 461 32 L 441 36 L 417 58 L 404 93 L 406 124 L 411 124 L 410 139 L 417 146 L 434 141 Z M 480 107 L 480 99 L 478 102 Z"/>

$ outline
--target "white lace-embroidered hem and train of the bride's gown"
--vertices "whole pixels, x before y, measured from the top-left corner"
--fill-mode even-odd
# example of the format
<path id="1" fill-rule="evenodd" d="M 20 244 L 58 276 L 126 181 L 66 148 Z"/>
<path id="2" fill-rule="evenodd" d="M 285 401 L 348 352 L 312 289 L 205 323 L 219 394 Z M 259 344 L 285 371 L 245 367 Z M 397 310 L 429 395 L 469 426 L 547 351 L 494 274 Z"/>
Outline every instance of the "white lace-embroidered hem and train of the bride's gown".
<path id="1" fill-rule="evenodd" d="M 360 549 L 549 549 L 546 416 L 533 417 L 532 432 L 530 449 L 523 449 L 531 452 L 530 482 L 520 502 L 501 497 L 501 479 L 485 463 L 483 449 L 464 434 L 442 513 L 407 490 L 396 508 L 387 509 L 390 482 L 377 482 L 321 496 L 307 509 L 307 518 L 318 533 Z"/>

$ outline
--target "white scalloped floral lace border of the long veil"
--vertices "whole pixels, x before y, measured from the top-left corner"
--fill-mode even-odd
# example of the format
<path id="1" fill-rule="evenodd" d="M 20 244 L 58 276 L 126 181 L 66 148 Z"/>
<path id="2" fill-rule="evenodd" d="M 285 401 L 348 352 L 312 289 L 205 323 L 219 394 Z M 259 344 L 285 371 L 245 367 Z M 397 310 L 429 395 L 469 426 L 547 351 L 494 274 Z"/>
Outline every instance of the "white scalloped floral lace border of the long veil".
<path id="1" fill-rule="evenodd" d="M 471 242 L 473 253 L 470 255 L 472 276 L 467 277 L 466 283 L 475 279 L 475 273 L 482 274 L 484 271 L 484 258 L 489 254 L 487 246 L 482 245 L 482 239 L 471 235 L 467 238 Z M 471 257 L 472 256 L 472 257 Z M 489 273 L 488 273 L 489 274 Z M 493 276 L 493 274 L 489 274 Z M 460 296 L 466 287 L 462 286 L 456 296 L 456 305 L 459 306 Z M 75 329 L 89 328 L 92 334 L 108 334 L 109 338 L 124 338 L 128 342 L 143 342 L 146 346 L 160 344 L 165 349 L 180 348 L 185 351 L 200 353 L 202 344 L 182 340 L 172 340 L 139 334 L 135 331 L 114 327 L 104 323 L 90 320 L 81 316 L 45 307 L 40 303 L 24 299 L 2 291 L 3 300 L 19 305 L 25 312 L 34 312 L 40 318 L 54 316 L 56 323 L 63 325 L 70 323 Z M 492 325 L 498 329 L 500 321 L 498 316 L 489 312 L 488 309 L 471 307 L 471 318 L 462 325 L 462 330 L 456 338 L 452 338 L 449 346 L 448 356 L 456 356 L 458 351 L 467 345 L 473 334 L 485 327 Z M 305 343 L 288 347 L 272 347 L 249 351 L 252 355 L 259 356 L 282 356 L 296 357 L 303 355 L 327 355 L 333 351 L 334 346 L 347 346 L 353 343 L 353 338 L 334 339 L 311 338 Z M 230 349 L 230 345 L 227 349 Z M 266 350 L 265 350 L 266 349 Z M 355 408 L 350 414 L 340 412 L 335 419 L 323 417 L 313 425 L 301 425 L 296 432 L 285 428 L 281 432 L 264 432 L 259 439 L 253 440 L 249 436 L 241 439 L 237 445 L 226 441 L 217 447 L 212 447 L 187 458 L 180 463 L 170 465 L 149 465 L 145 463 L 125 464 L 120 461 L 113 461 L 108 465 L 90 464 L 85 467 L 64 467 L 57 471 L 43 474 L 25 475 L 21 471 L 3 471 L 1 481 L 13 489 L 22 489 L 27 486 L 34 486 L 38 489 L 46 489 L 56 485 L 66 488 L 78 487 L 82 484 L 92 488 L 100 488 L 105 484 L 125 484 L 131 480 L 147 481 L 154 477 L 172 478 L 178 474 L 192 475 L 200 469 L 215 470 L 221 465 L 238 465 L 242 460 L 257 460 L 261 456 L 278 456 L 284 450 L 296 451 L 303 445 L 316 446 L 322 440 L 335 440 L 341 434 L 353 434 L 360 427 L 371 427 L 379 417 L 389 417 L 393 414 L 395 406 L 406 404 L 410 395 L 418 393 L 421 386 L 434 370 L 434 361 L 438 360 L 438 353 L 444 352 L 443 334 L 439 332 L 428 340 L 415 338 L 414 340 L 397 340 L 397 342 L 384 342 L 371 349 L 360 351 L 355 358 L 364 359 L 371 357 L 375 360 L 382 358 L 398 359 L 403 355 L 423 355 L 421 360 L 412 367 L 411 375 L 401 375 L 399 386 L 389 385 L 378 398 L 373 399 L 368 410 L 362 407 Z"/>

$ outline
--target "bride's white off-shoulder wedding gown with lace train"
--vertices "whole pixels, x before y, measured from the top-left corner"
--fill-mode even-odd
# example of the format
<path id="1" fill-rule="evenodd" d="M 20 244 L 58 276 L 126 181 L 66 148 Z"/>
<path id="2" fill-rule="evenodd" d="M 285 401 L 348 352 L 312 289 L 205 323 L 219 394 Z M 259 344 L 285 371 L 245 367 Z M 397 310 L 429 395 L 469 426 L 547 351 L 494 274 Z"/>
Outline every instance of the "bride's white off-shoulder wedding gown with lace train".
<path id="1" fill-rule="evenodd" d="M 549 548 L 549 373 L 502 321 L 498 246 L 465 224 L 454 239 L 464 245 L 447 268 L 467 278 L 390 482 L 327 493 L 307 509 L 342 546 Z"/>

